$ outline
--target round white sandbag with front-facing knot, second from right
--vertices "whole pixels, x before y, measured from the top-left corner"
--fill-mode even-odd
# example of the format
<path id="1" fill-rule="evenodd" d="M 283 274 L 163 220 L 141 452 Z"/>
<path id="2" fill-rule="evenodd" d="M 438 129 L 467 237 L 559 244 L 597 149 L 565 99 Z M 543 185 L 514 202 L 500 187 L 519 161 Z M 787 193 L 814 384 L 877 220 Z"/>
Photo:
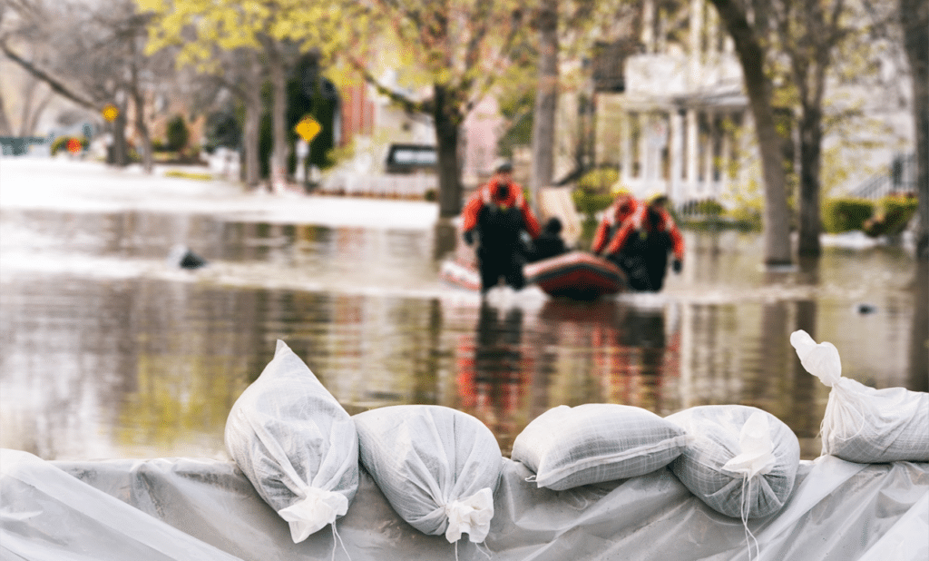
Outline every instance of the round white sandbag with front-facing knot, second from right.
<path id="1" fill-rule="evenodd" d="M 713 510 L 745 520 L 787 502 L 800 442 L 777 417 L 745 405 L 704 405 L 665 419 L 691 437 L 671 470 Z"/>

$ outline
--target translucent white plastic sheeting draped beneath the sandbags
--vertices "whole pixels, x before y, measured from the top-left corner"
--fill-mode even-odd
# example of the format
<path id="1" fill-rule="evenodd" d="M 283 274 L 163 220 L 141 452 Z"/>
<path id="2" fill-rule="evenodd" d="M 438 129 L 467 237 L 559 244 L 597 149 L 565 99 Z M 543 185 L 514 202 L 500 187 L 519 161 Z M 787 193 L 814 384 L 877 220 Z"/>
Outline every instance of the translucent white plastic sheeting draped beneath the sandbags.
<path id="1" fill-rule="evenodd" d="M 326 528 L 294 543 L 231 462 L 46 462 L 3 450 L 0 470 L 3 559 L 455 559 L 444 537 L 403 522 L 363 470 L 336 523 L 345 551 Z M 491 533 L 484 545 L 458 542 L 458 559 L 749 558 L 741 521 L 700 502 L 667 468 L 565 491 L 537 489 L 530 475 L 504 459 Z M 784 508 L 749 528 L 762 560 L 924 561 L 929 463 L 801 462 Z"/>

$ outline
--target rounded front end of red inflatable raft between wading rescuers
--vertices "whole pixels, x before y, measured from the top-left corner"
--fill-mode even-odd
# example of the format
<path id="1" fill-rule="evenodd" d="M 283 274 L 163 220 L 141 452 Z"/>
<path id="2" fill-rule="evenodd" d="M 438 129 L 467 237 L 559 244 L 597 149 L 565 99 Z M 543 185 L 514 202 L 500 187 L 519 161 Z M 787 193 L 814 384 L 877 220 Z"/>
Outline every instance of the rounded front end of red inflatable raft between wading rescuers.
<path id="1" fill-rule="evenodd" d="M 626 276 L 606 259 L 586 252 L 569 252 L 524 268 L 526 281 L 546 294 L 575 300 L 595 300 L 626 290 Z"/>

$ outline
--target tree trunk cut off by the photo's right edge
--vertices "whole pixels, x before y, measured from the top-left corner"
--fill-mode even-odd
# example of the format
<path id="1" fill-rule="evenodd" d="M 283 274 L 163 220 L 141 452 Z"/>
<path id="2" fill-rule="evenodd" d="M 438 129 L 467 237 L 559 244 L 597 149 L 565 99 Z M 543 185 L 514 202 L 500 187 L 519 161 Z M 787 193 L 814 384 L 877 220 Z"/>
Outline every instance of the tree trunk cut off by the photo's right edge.
<path id="1" fill-rule="evenodd" d="M 916 191 L 919 224 L 916 255 L 929 260 L 929 3 L 900 0 L 903 43 L 913 84 L 913 121 L 916 126 Z"/>

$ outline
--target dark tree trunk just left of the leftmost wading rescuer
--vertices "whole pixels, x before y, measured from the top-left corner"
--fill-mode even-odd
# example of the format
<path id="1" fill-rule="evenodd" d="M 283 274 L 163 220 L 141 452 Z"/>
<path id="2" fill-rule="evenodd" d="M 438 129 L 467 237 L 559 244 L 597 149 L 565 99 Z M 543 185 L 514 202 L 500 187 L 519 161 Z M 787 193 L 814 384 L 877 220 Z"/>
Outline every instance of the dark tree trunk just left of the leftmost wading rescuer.
<path id="1" fill-rule="evenodd" d="M 458 161 L 458 133 L 462 119 L 455 114 L 444 85 L 433 85 L 433 118 L 438 150 L 438 215 L 447 218 L 462 211 L 461 166 Z"/>

